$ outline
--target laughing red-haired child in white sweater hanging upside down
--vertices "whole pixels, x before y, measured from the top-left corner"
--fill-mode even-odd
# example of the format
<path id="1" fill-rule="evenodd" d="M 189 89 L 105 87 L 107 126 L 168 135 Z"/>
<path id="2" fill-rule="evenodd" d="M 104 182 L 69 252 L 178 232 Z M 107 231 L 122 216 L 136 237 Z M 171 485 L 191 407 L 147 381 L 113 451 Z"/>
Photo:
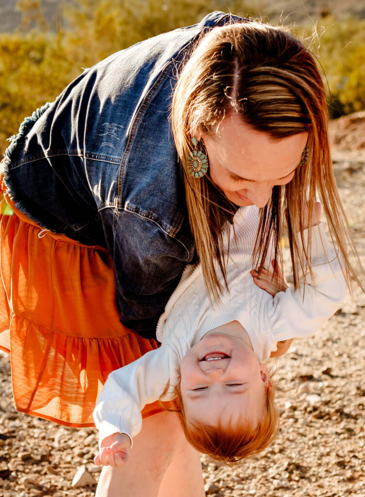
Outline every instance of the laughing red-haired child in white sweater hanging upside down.
<path id="1" fill-rule="evenodd" d="M 105 383 L 94 411 L 100 431 L 96 464 L 127 461 L 141 429 L 140 411 L 157 399 L 179 398 L 187 440 L 215 459 L 237 462 L 270 443 L 278 413 L 263 361 L 278 342 L 312 335 L 340 307 L 346 291 L 317 207 L 318 224 L 310 228 L 315 287 L 306 284 L 304 292 L 294 292 L 281 274 L 274 281 L 269 271 L 251 271 L 255 206 L 241 208 L 225 235 L 229 292 L 219 306 L 209 300 L 201 266 L 185 269 L 157 326 L 160 348 L 112 372 Z M 303 290 L 305 275 L 302 281 Z"/>

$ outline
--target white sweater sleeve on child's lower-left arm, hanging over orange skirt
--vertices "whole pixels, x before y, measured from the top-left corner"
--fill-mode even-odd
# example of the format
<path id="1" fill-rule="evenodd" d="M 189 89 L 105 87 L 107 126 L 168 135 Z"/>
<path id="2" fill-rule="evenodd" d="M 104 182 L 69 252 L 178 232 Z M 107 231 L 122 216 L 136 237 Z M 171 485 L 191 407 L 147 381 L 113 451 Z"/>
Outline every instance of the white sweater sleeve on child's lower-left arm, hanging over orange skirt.
<path id="1" fill-rule="evenodd" d="M 132 441 L 142 427 L 141 410 L 158 400 L 167 385 L 176 383 L 177 371 L 175 353 L 163 345 L 113 371 L 93 412 L 99 429 L 99 447 L 113 433 L 125 433 Z"/>

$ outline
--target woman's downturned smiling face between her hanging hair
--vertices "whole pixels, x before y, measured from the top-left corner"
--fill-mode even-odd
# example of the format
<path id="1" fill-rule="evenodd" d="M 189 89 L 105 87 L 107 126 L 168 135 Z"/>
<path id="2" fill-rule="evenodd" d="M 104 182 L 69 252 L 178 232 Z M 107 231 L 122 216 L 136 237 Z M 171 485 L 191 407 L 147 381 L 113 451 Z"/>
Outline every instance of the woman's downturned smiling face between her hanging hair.
<path id="1" fill-rule="evenodd" d="M 293 178 L 308 139 L 308 133 L 272 138 L 236 113 L 223 119 L 214 136 L 198 136 L 207 149 L 212 180 L 241 207 L 264 207 L 272 187 Z"/>

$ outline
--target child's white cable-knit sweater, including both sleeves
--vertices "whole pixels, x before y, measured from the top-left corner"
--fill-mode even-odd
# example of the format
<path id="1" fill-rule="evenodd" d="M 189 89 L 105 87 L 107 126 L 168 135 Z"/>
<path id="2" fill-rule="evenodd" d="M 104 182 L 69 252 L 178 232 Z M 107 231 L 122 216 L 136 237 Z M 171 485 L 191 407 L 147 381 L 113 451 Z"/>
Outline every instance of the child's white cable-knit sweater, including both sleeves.
<path id="1" fill-rule="evenodd" d="M 208 331 L 239 321 L 261 362 L 276 350 L 277 341 L 312 335 L 340 307 L 346 284 L 322 223 L 311 229 L 315 287 L 306 285 L 304 299 L 303 293 L 292 288 L 271 297 L 253 283 L 249 271 L 258 221 L 255 206 L 243 207 L 234 218 L 234 227 L 226 229 L 230 292 L 224 293 L 221 304 L 211 305 L 201 265 L 187 266 L 157 325 L 161 347 L 109 375 L 94 411 L 100 443 L 116 432 L 135 436 L 142 426 L 141 410 L 158 400 L 167 385 L 162 400 L 176 397 L 181 360 Z"/>

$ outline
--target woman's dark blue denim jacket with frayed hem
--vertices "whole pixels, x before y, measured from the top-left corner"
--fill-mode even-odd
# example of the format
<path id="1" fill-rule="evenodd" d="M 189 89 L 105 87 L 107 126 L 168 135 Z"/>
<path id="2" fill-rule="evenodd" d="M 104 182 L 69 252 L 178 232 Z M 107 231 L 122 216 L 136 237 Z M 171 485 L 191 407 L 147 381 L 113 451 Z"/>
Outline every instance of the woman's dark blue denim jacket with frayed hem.
<path id="1" fill-rule="evenodd" d="M 177 67 L 202 33 L 243 19 L 213 12 L 86 69 L 21 124 L 5 151 L 15 206 L 41 227 L 110 250 L 121 322 L 153 337 L 194 261 L 169 120 Z"/>

